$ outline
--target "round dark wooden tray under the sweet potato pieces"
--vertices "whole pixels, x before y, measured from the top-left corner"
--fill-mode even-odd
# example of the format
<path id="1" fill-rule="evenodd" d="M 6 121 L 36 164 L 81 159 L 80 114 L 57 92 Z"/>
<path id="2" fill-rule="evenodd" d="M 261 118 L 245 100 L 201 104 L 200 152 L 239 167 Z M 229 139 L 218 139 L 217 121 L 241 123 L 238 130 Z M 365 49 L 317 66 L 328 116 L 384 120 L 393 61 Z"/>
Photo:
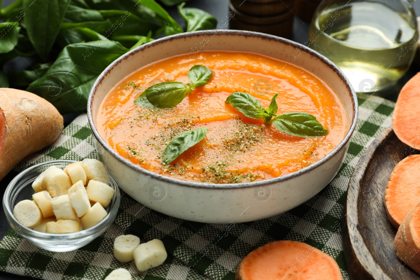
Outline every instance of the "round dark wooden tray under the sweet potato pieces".
<path id="1" fill-rule="evenodd" d="M 370 144 L 354 168 L 343 216 L 344 259 L 352 280 L 420 279 L 396 256 L 396 229 L 383 206 L 392 170 L 410 154 L 419 151 L 399 141 L 389 127 Z"/>

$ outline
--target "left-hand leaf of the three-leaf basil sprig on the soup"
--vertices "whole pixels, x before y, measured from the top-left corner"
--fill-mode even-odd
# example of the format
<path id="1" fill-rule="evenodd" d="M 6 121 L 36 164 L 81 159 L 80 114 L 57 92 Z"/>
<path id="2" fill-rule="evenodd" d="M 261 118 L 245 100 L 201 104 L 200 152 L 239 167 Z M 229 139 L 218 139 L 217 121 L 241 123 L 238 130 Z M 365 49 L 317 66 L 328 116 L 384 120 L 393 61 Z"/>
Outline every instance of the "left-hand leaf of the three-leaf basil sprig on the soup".
<path id="1" fill-rule="evenodd" d="M 226 98 L 225 103 L 230 103 L 235 109 L 248 118 L 264 118 L 264 115 L 259 113 L 264 112 L 261 103 L 249 93 L 234 92 Z"/>

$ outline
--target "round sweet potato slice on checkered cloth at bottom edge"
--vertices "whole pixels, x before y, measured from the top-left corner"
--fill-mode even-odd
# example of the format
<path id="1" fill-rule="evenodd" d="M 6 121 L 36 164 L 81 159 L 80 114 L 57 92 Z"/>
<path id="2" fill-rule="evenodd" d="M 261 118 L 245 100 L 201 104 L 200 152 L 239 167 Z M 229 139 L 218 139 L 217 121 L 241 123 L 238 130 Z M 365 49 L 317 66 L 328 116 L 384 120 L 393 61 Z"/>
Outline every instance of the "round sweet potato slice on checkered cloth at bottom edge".
<path id="1" fill-rule="evenodd" d="M 342 280 L 336 261 L 298 241 L 275 241 L 242 259 L 235 280 Z"/>

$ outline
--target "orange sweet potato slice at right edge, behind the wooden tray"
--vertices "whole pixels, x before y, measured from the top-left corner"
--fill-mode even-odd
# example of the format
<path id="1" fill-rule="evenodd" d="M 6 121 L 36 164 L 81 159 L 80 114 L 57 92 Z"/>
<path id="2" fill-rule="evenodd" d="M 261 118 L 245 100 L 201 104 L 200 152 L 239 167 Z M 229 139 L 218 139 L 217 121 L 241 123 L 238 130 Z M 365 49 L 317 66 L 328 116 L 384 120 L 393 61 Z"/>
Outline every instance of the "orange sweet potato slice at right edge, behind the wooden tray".
<path id="1" fill-rule="evenodd" d="M 392 127 L 404 144 L 420 150 L 420 122 L 417 114 L 420 107 L 420 73 L 412 77 L 399 92 L 392 115 Z"/>

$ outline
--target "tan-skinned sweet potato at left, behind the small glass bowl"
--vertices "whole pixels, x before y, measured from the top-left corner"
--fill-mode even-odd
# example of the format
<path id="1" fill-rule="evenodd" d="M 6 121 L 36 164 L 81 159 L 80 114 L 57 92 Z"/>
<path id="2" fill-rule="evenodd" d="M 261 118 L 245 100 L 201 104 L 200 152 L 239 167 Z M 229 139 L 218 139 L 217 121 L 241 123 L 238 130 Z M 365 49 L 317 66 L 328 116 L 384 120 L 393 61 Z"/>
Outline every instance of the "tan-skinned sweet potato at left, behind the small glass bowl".
<path id="1" fill-rule="evenodd" d="M 47 100 L 0 88 L 0 180 L 24 157 L 57 139 L 63 117 Z"/>

